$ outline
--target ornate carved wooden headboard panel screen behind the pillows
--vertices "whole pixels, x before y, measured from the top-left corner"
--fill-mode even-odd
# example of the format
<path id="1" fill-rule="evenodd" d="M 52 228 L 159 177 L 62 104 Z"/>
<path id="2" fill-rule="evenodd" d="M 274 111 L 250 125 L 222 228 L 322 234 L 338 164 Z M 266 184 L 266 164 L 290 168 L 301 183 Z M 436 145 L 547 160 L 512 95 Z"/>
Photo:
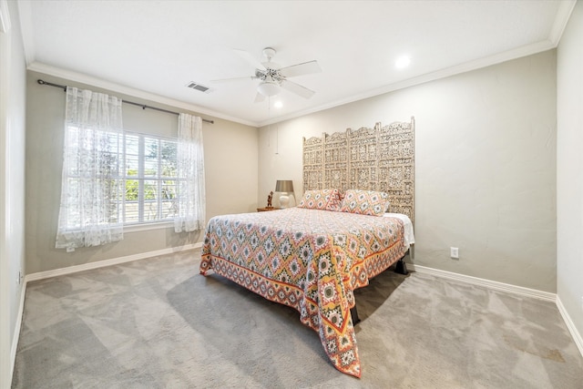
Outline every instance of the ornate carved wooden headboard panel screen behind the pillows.
<path id="1" fill-rule="evenodd" d="M 367 189 L 389 194 L 391 212 L 414 221 L 414 118 L 303 138 L 303 189 Z"/>

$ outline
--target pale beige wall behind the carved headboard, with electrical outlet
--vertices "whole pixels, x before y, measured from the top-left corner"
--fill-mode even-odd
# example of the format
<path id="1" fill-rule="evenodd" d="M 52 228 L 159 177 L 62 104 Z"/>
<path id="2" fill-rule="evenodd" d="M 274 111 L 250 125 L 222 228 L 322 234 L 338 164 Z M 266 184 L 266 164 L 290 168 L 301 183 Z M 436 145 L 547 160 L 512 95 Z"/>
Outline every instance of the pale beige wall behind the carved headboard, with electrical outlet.
<path id="1" fill-rule="evenodd" d="M 556 292 L 556 76 L 551 50 L 261 128 L 259 202 L 301 199 L 302 137 L 414 116 L 414 263 Z"/>

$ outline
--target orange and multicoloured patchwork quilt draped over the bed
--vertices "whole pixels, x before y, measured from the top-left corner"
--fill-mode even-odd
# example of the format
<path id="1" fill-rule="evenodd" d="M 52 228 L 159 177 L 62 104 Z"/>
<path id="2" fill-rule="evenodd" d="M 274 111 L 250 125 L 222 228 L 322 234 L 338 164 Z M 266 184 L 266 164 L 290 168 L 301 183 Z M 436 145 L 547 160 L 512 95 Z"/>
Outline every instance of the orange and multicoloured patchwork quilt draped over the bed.
<path id="1" fill-rule="evenodd" d="M 360 377 L 353 291 L 405 251 L 398 218 L 290 208 L 209 220 L 199 271 L 293 307 L 320 334 L 332 364 Z"/>

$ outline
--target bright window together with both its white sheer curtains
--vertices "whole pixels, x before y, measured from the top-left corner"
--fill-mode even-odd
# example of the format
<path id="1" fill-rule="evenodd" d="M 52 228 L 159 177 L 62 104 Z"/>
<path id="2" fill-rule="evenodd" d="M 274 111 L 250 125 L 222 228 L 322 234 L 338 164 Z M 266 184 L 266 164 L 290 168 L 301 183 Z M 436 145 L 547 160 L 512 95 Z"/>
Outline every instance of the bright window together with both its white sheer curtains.
<path id="1" fill-rule="evenodd" d="M 180 113 L 177 138 L 127 132 L 121 103 L 66 87 L 57 249 L 121 241 L 125 225 L 204 228 L 202 119 Z"/>

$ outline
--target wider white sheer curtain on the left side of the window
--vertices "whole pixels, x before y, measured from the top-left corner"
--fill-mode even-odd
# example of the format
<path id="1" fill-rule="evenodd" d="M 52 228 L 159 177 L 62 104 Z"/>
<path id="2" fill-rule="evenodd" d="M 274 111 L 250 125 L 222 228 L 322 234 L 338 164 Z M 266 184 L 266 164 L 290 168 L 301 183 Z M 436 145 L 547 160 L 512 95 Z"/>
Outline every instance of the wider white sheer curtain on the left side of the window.
<path id="1" fill-rule="evenodd" d="M 123 239 L 121 99 L 66 88 L 65 148 L 56 248 Z"/>

